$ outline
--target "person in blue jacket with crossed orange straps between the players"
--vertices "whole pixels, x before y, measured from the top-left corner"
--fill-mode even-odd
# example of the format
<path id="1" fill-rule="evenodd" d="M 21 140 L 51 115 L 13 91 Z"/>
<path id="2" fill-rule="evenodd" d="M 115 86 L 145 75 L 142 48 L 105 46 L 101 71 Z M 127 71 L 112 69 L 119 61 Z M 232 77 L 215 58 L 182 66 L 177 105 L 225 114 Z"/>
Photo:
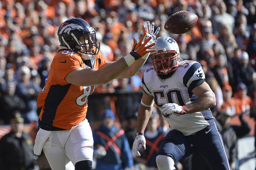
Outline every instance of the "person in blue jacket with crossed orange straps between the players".
<path id="1" fill-rule="evenodd" d="M 95 170 L 132 170 L 134 162 L 125 131 L 114 126 L 115 115 L 112 110 L 105 109 L 101 117 L 102 125 L 93 132 Z M 105 156 L 97 154 L 98 148 L 105 149 Z M 95 163 L 95 161 L 94 161 Z M 94 166 L 94 165 L 93 165 Z"/>

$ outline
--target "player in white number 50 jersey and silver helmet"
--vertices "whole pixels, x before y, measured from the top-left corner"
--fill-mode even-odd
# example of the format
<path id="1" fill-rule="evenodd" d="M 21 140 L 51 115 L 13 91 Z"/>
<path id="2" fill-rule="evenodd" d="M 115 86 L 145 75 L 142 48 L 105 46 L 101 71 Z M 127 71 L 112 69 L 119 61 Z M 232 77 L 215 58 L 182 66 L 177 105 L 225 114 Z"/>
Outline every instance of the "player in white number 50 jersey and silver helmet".
<path id="1" fill-rule="evenodd" d="M 140 156 L 140 144 L 146 149 L 144 131 L 155 103 L 170 125 L 157 153 L 159 170 L 176 170 L 174 164 L 194 150 L 212 170 L 231 170 L 209 109 L 216 104 L 215 94 L 204 81 L 201 64 L 180 61 L 179 47 L 171 37 L 157 38 L 153 49 L 157 50 L 151 53 L 153 66 L 144 72 L 141 83 L 144 92 L 138 110 L 134 153 Z"/>

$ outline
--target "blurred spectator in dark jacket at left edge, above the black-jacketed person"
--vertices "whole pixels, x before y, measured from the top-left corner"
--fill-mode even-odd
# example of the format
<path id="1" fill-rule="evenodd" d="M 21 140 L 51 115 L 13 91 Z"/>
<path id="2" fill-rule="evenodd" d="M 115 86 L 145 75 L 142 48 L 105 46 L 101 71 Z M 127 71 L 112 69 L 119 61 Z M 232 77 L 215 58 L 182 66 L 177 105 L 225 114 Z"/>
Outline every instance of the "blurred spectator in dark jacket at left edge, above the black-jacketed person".
<path id="1" fill-rule="evenodd" d="M 2 108 L 0 119 L 4 124 L 9 124 L 15 113 L 23 111 L 26 105 L 23 99 L 15 94 L 16 84 L 14 82 L 7 82 L 5 88 L 0 98 L 0 107 Z"/>

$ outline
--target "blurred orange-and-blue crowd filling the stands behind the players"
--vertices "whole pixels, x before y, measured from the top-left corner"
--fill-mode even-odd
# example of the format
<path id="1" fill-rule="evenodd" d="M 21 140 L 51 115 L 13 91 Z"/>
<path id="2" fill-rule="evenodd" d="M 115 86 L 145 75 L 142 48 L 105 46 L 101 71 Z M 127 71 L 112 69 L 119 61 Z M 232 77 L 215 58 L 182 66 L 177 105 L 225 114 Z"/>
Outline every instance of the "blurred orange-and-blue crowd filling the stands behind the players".
<path id="1" fill-rule="evenodd" d="M 182 35 L 166 32 L 165 21 L 180 10 L 197 14 L 196 26 Z M 17 112 L 24 123 L 38 121 L 37 96 L 59 49 L 57 29 L 73 17 L 96 30 L 108 61 L 127 55 L 133 38 L 143 35 L 141 25 L 154 22 L 161 28 L 158 37 L 177 41 L 181 60 L 201 63 L 217 99 L 212 114 L 221 119 L 228 112 L 230 124 L 236 125 L 244 118 L 254 135 L 256 0 L 1 0 L 0 124 L 9 124 Z M 148 58 L 137 75 L 98 86 L 94 93 L 140 91 L 140 79 L 150 65 Z"/>

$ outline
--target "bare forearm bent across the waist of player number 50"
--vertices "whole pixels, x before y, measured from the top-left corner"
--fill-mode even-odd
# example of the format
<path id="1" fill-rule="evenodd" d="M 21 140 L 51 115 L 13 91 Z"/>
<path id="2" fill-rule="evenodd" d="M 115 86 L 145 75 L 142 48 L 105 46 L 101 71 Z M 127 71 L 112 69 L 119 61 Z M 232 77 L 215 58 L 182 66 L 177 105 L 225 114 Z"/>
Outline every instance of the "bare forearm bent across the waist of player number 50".
<path id="1" fill-rule="evenodd" d="M 200 112 L 216 105 L 216 98 L 214 94 L 205 93 L 198 97 L 195 102 L 186 105 L 186 113 Z"/>

